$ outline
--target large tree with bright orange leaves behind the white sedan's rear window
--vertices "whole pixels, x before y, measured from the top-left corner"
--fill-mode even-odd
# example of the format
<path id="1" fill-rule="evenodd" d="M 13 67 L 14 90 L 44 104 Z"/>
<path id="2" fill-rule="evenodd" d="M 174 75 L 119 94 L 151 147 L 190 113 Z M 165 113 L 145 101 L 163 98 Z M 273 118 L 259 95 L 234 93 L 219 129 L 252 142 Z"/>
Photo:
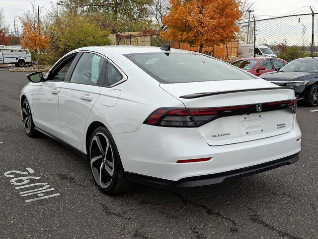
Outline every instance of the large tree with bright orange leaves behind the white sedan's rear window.
<path id="1" fill-rule="evenodd" d="M 191 46 L 209 47 L 235 39 L 239 31 L 239 0 L 170 0 L 171 9 L 163 17 L 167 30 L 161 36 Z"/>

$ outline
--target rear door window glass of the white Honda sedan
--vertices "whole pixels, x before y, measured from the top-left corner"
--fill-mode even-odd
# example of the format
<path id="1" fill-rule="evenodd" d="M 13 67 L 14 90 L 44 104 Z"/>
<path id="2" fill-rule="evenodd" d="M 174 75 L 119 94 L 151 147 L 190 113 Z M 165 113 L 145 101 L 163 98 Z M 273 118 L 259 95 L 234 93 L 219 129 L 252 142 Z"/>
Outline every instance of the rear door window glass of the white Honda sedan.
<path id="1" fill-rule="evenodd" d="M 106 59 L 93 53 L 84 52 L 80 57 L 71 77 L 71 82 L 104 85 L 103 69 L 106 66 Z"/>

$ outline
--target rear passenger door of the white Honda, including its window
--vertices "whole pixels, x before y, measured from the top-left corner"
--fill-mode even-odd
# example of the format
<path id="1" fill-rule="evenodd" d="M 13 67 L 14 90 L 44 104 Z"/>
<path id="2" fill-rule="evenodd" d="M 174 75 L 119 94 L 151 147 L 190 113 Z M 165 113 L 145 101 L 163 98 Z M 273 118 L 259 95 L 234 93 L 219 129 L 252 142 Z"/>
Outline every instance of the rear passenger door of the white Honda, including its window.
<path id="1" fill-rule="evenodd" d="M 83 52 L 59 97 L 61 138 L 82 150 L 84 128 L 89 112 L 105 84 L 107 60 L 97 53 Z"/>

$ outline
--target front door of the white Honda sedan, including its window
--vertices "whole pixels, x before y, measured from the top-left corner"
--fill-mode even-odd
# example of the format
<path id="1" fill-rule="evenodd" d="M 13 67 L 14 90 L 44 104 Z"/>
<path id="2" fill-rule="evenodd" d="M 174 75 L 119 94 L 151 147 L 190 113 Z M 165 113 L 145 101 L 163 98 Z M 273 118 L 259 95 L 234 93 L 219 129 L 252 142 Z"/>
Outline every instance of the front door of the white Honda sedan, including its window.
<path id="1" fill-rule="evenodd" d="M 69 72 L 70 66 L 76 55 L 62 59 L 50 73 L 47 79 L 34 88 L 33 91 L 33 121 L 42 130 L 59 137 L 59 93 L 64 80 Z"/>

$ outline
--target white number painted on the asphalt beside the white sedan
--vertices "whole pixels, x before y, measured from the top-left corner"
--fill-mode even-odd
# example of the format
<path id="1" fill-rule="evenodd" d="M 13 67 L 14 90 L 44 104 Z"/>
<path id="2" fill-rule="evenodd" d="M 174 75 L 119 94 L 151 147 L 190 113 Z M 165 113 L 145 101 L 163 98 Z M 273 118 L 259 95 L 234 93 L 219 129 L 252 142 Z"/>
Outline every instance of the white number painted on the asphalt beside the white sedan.
<path id="1" fill-rule="evenodd" d="M 34 171 L 32 168 L 25 168 L 25 169 L 26 171 L 24 172 L 18 171 L 18 170 L 7 171 L 3 173 L 3 175 L 5 177 L 12 178 L 10 180 L 10 183 L 13 185 L 17 185 L 15 189 L 18 189 L 19 191 L 25 190 L 25 191 L 19 192 L 19 195 L 21 197 L 28 198 L 27 200 L 25 200 L 26 203 L 42 200 L 45 198 L 52 198 L 52 197 L 60 195 L 59 193 L 45 195 L 47 194 L 47 192 L 53 193 L 51 191 L 53 191 L 54 188 L 50 188 L 50 185 L 48 183 L 38 182 L 37 180 L 39 180 L 41 177 L 29 176 L 34 174 Z M 21 177 L 22 176 L 21 174 L 24 174 L 23 177 Z M 26 176 L 25 174 L 28 174 L 28 176 Z M 31 183 L 30 180 L 32 181 L 35 180 L 36 182 Z M 28 184 L 29 182 L 30 184 Z M 37 196 L 37 197 L 34 198 L 34 196 Z"/>

